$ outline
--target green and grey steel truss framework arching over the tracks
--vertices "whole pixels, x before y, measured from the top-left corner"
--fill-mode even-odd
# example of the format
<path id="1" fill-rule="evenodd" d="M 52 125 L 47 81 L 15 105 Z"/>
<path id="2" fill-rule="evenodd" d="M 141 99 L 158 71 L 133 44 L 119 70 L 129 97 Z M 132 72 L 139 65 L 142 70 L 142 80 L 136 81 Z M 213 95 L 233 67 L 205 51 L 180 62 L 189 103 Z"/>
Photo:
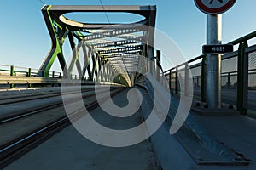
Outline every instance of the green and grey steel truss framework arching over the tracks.
<path id="1" fill-rule="evenodd" d="M 38 71 L 38 77 L 49 77 L 49 70 L 57 58 L 63 75 L 70 78 L 74 66 L 79 77 L 87 80 L 108 82 L 117 72 L 119 82 L 131 86 L 137 71 L 140 56 L 154 61 L 155 6 L 53 6 L 42 8 L 44 20 L 49 30 L 52 47 Z M 70 20 L 64 14 L 73 12 L 114 12 L 139 14 L 143 20 L 129 24 L 81 23 Z M 67 38 L 68 37 L 68 38 Z M 63 54 L 63 43 L 69 40 L 73 50 L 71 62 L 67 65 Z M 77 40 L 77 43 L 76 41 Z M 84 54 L 84 63 L 79 56 Z M 141 64 L 142 65 L 142 64 Z M 140 65 L 140 66 L 141 66 Z M 132 70 L 132 71 L 131 71 Z"/>

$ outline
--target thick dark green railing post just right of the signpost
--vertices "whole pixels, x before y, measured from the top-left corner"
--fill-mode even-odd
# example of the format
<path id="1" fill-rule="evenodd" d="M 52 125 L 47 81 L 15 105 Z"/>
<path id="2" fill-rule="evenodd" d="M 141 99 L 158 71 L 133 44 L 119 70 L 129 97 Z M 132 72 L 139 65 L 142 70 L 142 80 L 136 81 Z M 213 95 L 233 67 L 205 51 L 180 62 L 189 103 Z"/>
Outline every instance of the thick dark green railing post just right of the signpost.
<path id="1" fill-rule="evenodd" d="M 242 115 L 247 115 L 247 87 L 248 87 L 248 56 L 245 48 L 248 47 L 247 42 L 241 42 L 238 48 L 237 62 L 237 110 Z"/>

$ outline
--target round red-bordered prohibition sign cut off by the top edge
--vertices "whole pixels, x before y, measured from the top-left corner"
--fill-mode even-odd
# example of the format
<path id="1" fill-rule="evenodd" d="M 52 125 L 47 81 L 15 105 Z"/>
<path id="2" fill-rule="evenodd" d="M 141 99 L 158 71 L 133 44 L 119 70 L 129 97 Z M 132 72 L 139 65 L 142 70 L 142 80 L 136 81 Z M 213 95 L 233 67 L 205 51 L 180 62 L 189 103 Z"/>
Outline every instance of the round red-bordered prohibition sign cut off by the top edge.
<path id="1" fill-rule="evenodd" d="M 222 14 L 230 9 L 236 0 L 195 0 L 195 5 L 206 14 Z"/>

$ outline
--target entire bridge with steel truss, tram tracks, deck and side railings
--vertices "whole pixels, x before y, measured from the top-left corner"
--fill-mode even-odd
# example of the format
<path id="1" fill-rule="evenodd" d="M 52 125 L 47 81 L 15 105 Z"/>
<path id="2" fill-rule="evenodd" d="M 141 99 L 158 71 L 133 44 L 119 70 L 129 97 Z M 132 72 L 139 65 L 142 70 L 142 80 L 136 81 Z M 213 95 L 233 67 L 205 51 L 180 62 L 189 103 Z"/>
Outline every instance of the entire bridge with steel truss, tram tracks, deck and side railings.
<path id="1" fill-rule="evenodd" d="M 256 168 L 256 45 L 247 44 L 256 32 L 220 56 L 221 107 L 212 108 L 206 55 L 163 71 L 156 6 L 41 10 L 51 48 L 40 68 L 0 65 L 1 169 Z M 67 17 L 73 13 L 143 19 L 83 23 Z"/>

